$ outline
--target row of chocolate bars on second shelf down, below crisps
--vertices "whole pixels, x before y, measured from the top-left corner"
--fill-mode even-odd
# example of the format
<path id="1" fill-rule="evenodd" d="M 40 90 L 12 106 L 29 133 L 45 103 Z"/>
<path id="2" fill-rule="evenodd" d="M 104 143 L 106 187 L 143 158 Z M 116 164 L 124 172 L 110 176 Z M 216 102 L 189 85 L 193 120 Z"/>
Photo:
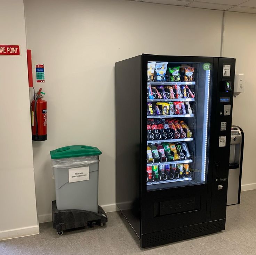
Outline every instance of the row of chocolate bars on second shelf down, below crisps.
<path id="1" fill-rule="evenodd" d="M 175 99 L 194 98 L 195 93 L 187 85 L 174 84 L 173 86 L 151 86 L 147 85 L 148 99 Z"/>

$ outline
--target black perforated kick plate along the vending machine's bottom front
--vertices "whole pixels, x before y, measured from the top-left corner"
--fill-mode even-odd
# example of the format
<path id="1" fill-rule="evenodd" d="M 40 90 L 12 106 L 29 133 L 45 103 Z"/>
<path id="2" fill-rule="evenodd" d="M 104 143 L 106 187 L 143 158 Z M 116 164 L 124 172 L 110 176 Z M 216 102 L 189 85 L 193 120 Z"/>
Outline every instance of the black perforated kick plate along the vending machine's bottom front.
<path id="1" fill-rule="evenodd" d="M 142 235 L 141 247 L 148 248 L 157 245 L 174 243 L 177 241 L 208 235 L 225 229 L 226 220 L 216 220 L 195 224 L 182 228 L 169 229 Z"/>

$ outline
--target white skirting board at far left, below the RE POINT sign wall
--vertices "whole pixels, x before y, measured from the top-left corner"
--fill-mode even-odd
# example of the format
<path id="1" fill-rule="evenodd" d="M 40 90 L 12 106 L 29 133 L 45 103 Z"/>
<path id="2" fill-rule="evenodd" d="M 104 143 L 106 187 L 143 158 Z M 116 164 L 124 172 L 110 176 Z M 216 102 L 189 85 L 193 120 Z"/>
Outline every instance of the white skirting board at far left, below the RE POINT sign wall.
<path id="1" fill-rule="evenodd" d="M 39 234 L 39 225 L 0 231 L 0 240 Z"/>

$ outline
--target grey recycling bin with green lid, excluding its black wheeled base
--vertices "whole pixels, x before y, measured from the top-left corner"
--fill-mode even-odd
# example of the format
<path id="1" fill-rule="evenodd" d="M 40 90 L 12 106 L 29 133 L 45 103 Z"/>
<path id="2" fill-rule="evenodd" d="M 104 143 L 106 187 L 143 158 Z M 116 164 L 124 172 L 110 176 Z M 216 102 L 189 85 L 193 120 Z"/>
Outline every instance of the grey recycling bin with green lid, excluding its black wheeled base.
<path id="1" fill-rule="evenodd" d="M 101 151 L 72 145 L 50 151 L 58 210 L 98 212 L 98 169 Z"/>

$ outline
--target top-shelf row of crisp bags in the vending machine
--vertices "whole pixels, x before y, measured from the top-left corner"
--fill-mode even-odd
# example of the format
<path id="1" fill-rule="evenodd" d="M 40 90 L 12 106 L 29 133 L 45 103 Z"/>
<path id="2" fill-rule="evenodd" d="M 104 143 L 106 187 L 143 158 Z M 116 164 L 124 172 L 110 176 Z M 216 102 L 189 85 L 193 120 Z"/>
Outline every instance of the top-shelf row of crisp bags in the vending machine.
<path id="1" fill-rule="evenodd" d="M 148 62 L 147 80 L 149 82 L 193 82 L 192 66 L 168 67 L 168 62 Z"/>

